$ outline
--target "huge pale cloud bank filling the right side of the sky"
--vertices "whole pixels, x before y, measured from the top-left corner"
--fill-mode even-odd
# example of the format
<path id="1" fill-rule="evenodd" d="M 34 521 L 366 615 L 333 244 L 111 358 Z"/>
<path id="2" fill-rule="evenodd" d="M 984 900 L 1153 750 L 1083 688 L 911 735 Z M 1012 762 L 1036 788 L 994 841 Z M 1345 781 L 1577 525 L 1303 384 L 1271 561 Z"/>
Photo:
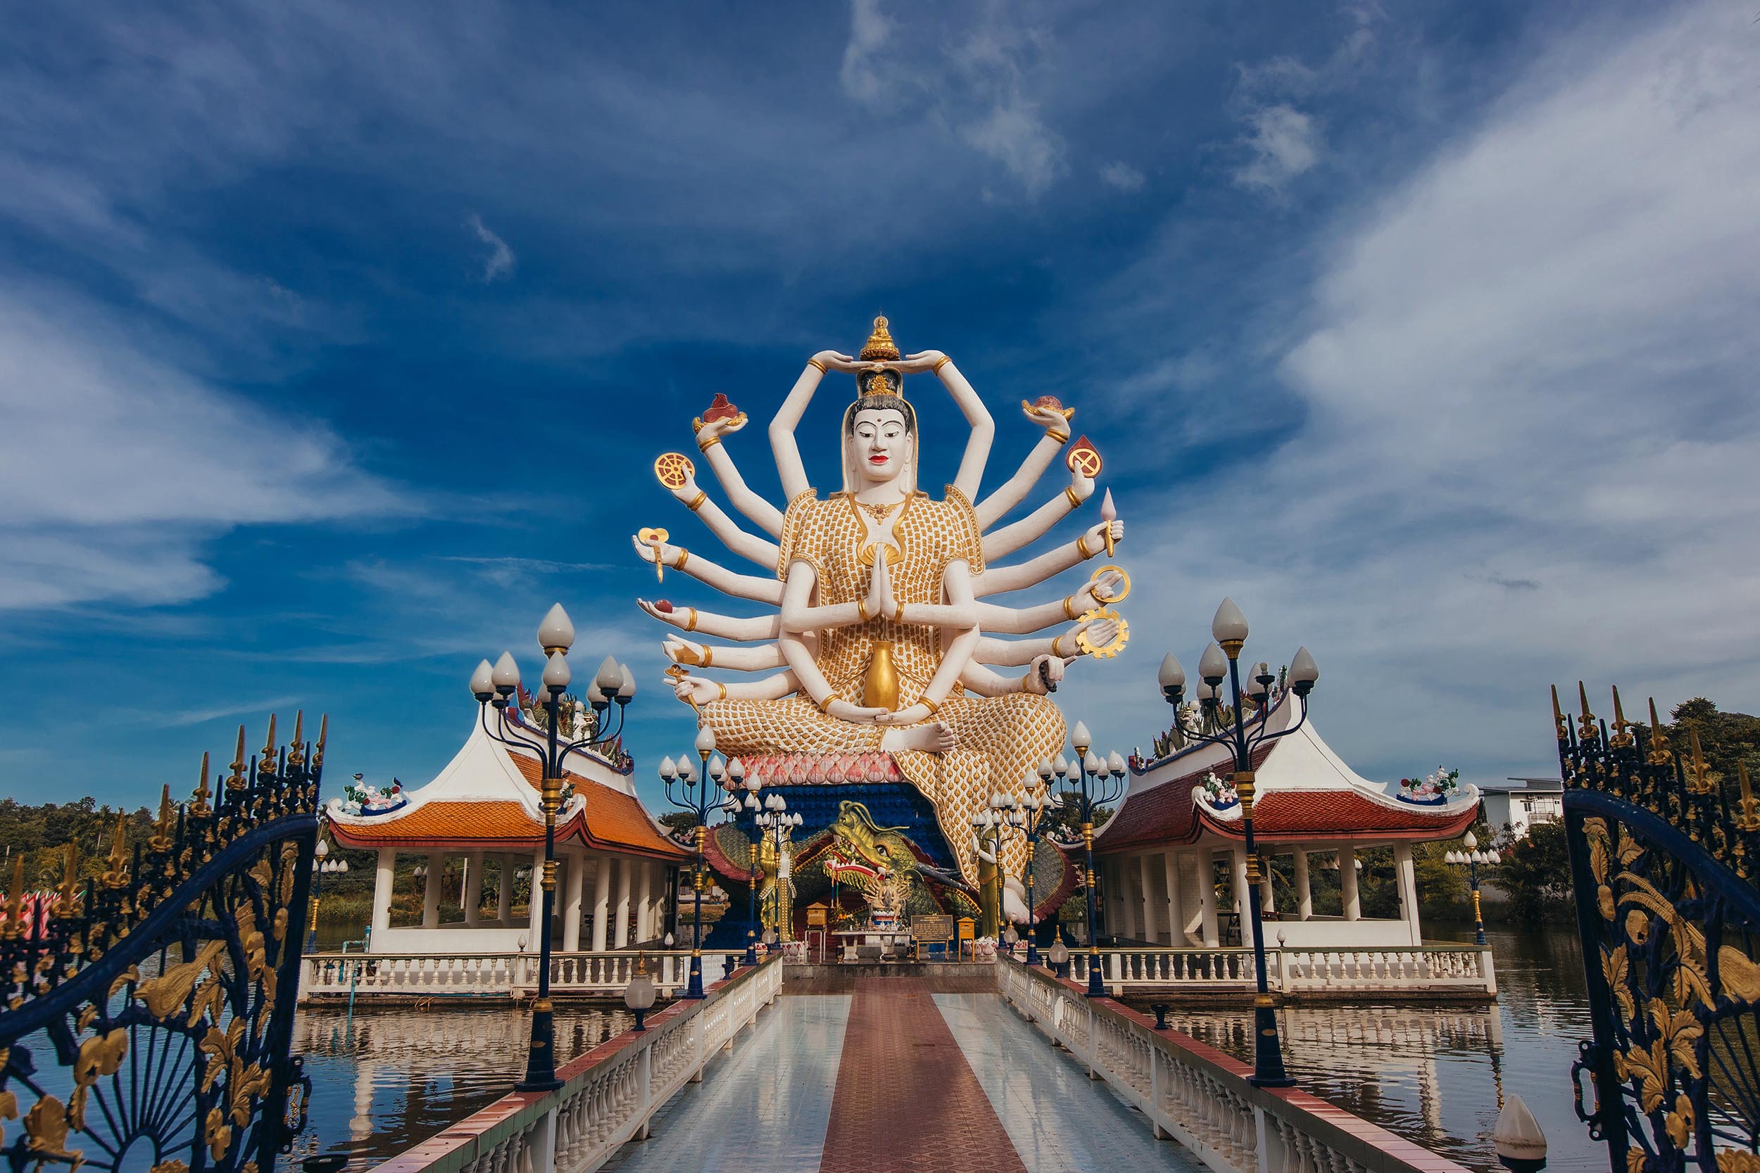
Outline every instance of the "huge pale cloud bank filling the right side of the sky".
<path id="1" fill-rule="evenodd" d="M 1250 652 L 1313 647 L 1316 721 L 1382 776 L 1551 769 L 1545 688 L 1579 677 L 1751 712 L 1756 67 L 1725 5 L 1575 30 L 1334 225 L 1280 368 L 1299 433 L 1183 487 L 1177 533 L 1137 506 L 1142 670 L 1234 594 Z M 1112 675 L 1072 698 L 1144 714 Z"/>

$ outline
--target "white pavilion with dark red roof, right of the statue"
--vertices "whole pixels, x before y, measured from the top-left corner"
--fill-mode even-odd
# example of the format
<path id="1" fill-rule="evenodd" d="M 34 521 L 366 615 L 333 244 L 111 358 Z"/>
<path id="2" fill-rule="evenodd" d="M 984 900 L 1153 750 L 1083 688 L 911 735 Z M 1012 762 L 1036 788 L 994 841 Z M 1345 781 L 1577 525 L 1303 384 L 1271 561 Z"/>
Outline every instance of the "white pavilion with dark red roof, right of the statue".
<path id="1" fill-rule="evenodd" d="M 1271 710 L 1271 732 L 1301 718 L 1285 695 Z M 1350 950 L 1422 944 L 1412 844 L 1461 835 L 1478 812 L 1477 786 L 1412 797 L 1399 783 L 1371 783 L 1320 739 L 1313 721 L 1253 754 L 1253 837 L 1267 863 L 1292 856 L 1294 900 L 1283 913 L 1272 899 L 1271 869 L 1258 885 L 1267 946 Z M 1216 777 L 1209 777 L 1214 774 Z M 1246 904 L 1246 841 L 1241 805 L 1227 786 L 1232 753 L 1188 746 L 1130 763 L 1130 786 L 1112 818 L 1095 834 L 1096 871 L 1107 932 L 1144 944 L 1251 944 Z M 1223 783 L 1216 786 L 1216 783 Z M 1366 918 L 1359 899 L 1359 855 L 1392 848 L 1399 916 Z M 1227 862 L 1232 883 L 1218 897 L 1214 869 Z M 1338 913 L 1316 914 L 1309 871 L 1338 871 Z"/>

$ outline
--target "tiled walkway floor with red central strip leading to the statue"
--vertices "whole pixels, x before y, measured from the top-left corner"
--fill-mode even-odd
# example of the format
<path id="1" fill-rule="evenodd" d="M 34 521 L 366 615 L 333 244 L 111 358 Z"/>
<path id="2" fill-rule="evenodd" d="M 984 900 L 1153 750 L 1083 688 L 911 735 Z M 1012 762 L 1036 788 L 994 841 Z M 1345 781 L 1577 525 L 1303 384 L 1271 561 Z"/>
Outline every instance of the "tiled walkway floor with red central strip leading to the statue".
<path id="1" fill-rule="evenodd" d="M 672 1097 L 649 1140 L 605 1168 L 1200 1169 L 996 994 L 929 994 L 910 978 L 778 999 L 702 1083 Z"/>

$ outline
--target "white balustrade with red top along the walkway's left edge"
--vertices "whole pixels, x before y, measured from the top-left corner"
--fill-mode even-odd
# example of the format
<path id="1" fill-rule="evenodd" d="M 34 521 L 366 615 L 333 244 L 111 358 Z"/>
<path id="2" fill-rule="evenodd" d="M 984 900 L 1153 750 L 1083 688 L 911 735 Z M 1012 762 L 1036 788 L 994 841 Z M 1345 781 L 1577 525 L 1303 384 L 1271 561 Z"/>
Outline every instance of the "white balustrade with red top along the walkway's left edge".
<path id="1" fill-rule="evenodd" d="M 688 955 L 686 955 L 688 957 Z M 781 994 L 781 962 L 741 969 L 702 1001 L 679 1001 L 558 1071 L 554 1092 L 514 1092 L 377 1173 L 590 1173 L 630 1140 Z"/>

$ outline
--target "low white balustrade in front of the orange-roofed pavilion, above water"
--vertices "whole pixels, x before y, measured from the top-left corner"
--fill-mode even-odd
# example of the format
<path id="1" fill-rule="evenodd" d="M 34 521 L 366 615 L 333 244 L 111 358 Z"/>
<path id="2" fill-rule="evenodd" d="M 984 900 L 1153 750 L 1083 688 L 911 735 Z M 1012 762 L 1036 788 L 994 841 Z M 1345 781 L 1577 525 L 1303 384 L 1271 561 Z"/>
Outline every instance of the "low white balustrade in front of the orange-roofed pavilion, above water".
<path id="1" fill-rule="evenodd" d="M 648 976 L 671 997 L 690 981 L 690 950 L 641 953 Z M 702 981 L 732 973 L 743 951 L 704 951 Z M 637 953 L 553 953 L 551 994 L 621 994 L 635 976 Z M 539 987 L 537 953 L 313 953 L 301 958 L 299 999 L 313 995 L 377 997 L 526 997 Z"/>

